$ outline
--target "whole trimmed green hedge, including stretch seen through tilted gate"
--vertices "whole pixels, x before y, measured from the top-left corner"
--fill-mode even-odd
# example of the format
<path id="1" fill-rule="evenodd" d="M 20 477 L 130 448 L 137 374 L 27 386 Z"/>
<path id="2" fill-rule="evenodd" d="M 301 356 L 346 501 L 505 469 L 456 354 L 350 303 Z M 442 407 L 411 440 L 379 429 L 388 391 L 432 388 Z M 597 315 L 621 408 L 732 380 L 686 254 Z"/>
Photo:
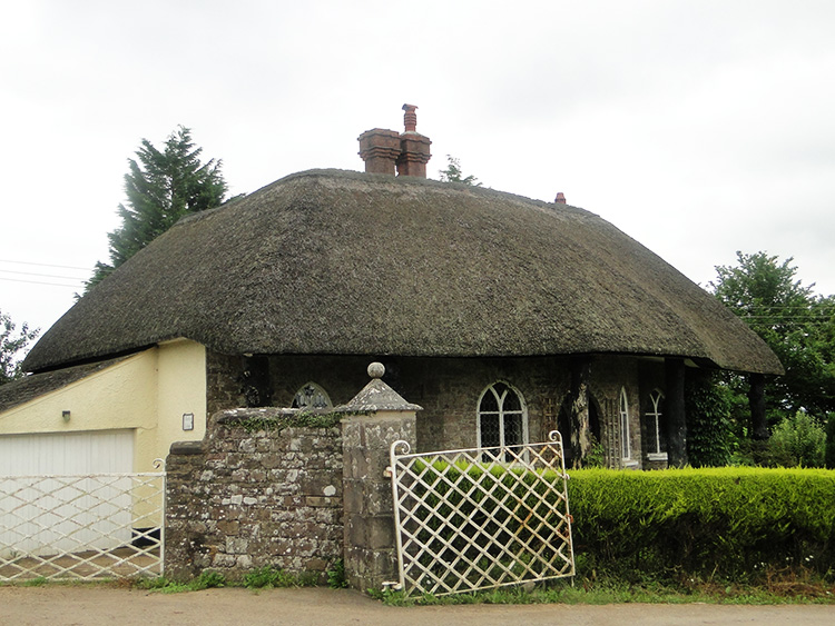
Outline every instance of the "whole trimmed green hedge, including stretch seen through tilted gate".
<path id="1" fill-rule="evenodd" d="M 495 564 L 481 548 L 468 547 L 449 525 L 461 524 L 463 535 L 495 530 L 495 540 L 519 540 L 540 554 L 551 549 L 553 543 L 541 529 L 519 521 L 550 515 L 548 507 L 562 506 L 557 497 L 543 499 L 541 494 L 530 493 L 536 478 L 531 471 L 442 463 L 422 470 L 423 479 L 434 483 L 439 494 L 423 500 L 425 510 L 433 509 L 436 515 L 421 530 L 422 541 L 445 543 L 450 554 L 463 552 L 482 568 Z M 469 488 L 484 471 L 522 496 L 522 506 L 514 507 L 512 516 Z M 568 493 L 579 575 L 671 585 L 692 577 L 756 583 L 768 573 L 786 569 L 835 577 L 833 471 L 724 467 L 580 469 L 570 474 Z M 544 478 L 560 480 L 552 471 Z M 468 493 L 466 498 L 451 494 L 451 483 Z M 450 497 L 458 508 L 441 504 L 440 495 Z M 439 554 L 443 558 L 442 549 Z"/>

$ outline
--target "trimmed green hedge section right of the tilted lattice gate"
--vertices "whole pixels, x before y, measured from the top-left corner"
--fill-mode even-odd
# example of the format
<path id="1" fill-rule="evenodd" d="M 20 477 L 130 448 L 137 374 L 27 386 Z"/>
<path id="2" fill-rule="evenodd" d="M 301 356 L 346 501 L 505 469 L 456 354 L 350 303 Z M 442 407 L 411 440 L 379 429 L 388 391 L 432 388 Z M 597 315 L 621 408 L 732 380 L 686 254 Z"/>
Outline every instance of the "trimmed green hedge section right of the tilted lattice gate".
<path id="1" fill-rule="evenodd" d="M 571 471 L 580 573 L 752 579 L 835 573 L 835 471 L 709 468 Z"/>

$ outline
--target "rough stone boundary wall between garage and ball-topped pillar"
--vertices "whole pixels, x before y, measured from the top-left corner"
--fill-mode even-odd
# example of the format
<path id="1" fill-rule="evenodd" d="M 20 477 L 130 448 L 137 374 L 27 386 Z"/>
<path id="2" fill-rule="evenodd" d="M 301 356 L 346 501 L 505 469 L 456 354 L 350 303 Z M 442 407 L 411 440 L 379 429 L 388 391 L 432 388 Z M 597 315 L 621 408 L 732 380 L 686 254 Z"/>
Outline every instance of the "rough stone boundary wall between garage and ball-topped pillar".
<path id="1" fill-rule="evenodd" d="M 258 428 L 283 409 L 216 414 L 204 441 L 167 459 L 166 575 L 253 568 L 324 573 L 343 556 L 342 434 Z M 284 411 L 286 413 L 286 411 Z"/>

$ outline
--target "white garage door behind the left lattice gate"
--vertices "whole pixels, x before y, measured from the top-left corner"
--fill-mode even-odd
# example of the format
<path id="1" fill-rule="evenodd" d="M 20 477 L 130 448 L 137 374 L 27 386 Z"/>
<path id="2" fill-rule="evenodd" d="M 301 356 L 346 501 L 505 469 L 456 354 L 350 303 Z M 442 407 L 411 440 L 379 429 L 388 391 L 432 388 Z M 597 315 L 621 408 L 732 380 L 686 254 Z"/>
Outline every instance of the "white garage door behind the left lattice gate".
<path id="1" fill-rule="evenodd" d="M 129 477 L 63 477 L 132 466 L 132 430 L 0 436 L 0 559 L 130 540 Z"/>

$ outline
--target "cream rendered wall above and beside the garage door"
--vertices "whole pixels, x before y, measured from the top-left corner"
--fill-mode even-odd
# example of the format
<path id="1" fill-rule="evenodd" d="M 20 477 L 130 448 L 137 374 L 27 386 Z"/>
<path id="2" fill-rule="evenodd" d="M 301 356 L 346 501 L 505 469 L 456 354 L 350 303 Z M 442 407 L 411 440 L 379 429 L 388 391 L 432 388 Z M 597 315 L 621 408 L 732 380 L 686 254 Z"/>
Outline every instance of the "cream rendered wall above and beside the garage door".
<path id="1" fill-rule="evenodd" d="M 70 411 L 69 421 L 62 411 Z M 183 414 L 194 430 L 183 430 Z M 154 470 L 174 441 L 206 431 L 206 352 L 194 341 L 168 341 L 0 414 L 0 436 L 130 428 L 134 470 Z"/>

